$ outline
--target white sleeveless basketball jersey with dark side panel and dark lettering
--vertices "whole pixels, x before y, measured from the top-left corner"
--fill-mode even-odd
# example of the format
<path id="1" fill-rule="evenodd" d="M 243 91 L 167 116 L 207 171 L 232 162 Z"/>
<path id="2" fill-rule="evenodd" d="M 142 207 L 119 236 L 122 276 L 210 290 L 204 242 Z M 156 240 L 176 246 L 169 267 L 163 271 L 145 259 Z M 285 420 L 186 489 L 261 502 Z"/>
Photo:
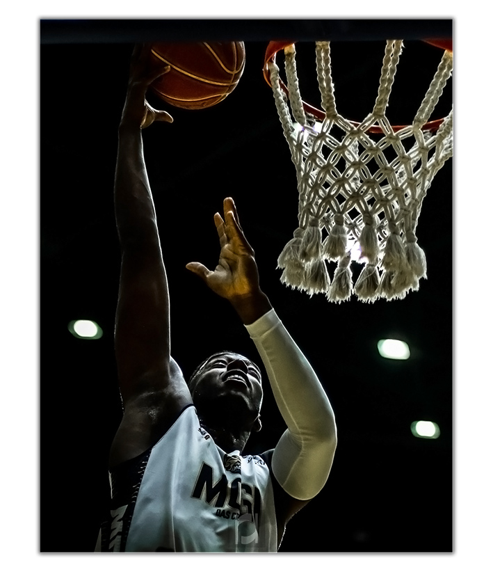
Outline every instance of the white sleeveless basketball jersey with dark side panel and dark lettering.
<path id="1" fill-rule="evenodd" d="M 186 407 L 154 447 L 111 472 L 111 518 L 96 550 L 276 552 L 262 457 L 223 451 Z"/>

